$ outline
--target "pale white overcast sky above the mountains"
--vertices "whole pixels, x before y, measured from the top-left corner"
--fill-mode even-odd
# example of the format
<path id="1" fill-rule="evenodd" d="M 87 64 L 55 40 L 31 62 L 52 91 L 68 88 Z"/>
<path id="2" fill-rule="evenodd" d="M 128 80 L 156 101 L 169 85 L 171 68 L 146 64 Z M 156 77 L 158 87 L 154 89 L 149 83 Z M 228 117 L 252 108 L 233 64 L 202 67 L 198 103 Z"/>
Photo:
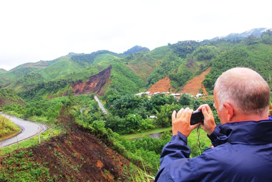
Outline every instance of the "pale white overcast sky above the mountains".
<path id="1" fill-rule="evenodd" d="M 1 0 L 0 68 L 272 28 L 270 0 Z"/>

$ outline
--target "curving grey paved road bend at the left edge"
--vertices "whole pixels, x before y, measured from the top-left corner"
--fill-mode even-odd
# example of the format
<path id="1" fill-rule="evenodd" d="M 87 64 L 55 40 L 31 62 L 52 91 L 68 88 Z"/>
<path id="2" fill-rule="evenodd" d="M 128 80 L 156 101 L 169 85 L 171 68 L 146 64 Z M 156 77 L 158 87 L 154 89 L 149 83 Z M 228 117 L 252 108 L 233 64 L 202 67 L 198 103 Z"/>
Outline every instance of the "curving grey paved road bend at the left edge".
<path id="1" fill-rule="evenodd" d="M 22 129 L 22 131 L 17 136 L 0 141 L 0 145 L 2 147 L 28 139 L 38 134 L 38 132 L 42 132 L 47 129 L 45 125 L 39 123 L 18 119 L 9 115 L 5 115 L 3 113 L 1 113 L 1 115 L 8 118 L 10 121 L 13 121 Z"/>

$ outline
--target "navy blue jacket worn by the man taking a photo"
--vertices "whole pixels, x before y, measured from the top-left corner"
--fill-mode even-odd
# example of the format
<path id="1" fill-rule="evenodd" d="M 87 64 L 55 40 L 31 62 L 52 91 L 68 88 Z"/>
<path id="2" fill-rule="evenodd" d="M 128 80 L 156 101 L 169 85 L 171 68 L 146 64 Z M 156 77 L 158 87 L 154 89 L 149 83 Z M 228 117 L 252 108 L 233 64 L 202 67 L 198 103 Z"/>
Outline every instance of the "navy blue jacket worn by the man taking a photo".
<path id="1" fill-rule="evenodd" d="M 218 125 L 215 147 L 189 158 L 187 138 L 172 137 L 161 154 L 155 182 L 272 182 L 272 121 Z"/>

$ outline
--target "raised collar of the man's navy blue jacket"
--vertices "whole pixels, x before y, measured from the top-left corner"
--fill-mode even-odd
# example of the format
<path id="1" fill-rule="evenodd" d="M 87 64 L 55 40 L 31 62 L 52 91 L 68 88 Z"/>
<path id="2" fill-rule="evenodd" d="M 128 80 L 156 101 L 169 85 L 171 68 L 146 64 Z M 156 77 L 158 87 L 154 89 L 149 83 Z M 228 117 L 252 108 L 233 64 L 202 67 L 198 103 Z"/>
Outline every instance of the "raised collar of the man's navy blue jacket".
<path id="1" fill-rule="evenodd" d="M 220 133 L 227 135 L 232 144 L 268 144 L 272 143 L 272 121 L 240 121 L 223 124 Z"/>

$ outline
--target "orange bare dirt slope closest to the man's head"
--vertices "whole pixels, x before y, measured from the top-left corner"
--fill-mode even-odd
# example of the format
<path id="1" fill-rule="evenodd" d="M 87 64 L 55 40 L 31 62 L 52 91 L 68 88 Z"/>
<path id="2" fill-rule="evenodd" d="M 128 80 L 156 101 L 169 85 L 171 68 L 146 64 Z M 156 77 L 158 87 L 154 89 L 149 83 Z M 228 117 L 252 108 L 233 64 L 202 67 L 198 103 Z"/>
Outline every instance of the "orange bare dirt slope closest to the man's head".
<path id="1" fill-rule="evenodd" d="M 209 73 L 210 71 L 211 71 L 211 67 L 209 67 L 206 71 L 204 71 L 200 75 L 191 79 L 177 93 L 182 93 L 182 94 L 187 93 L 187 94 L 191 94 L 195 96 L 196 94 L 200 93 L 200 89 L 202 88 L 203 94 L 208 95 L 204 85 L 202 85 L 201 82 L 205 79 L 205 75 Z"/>

